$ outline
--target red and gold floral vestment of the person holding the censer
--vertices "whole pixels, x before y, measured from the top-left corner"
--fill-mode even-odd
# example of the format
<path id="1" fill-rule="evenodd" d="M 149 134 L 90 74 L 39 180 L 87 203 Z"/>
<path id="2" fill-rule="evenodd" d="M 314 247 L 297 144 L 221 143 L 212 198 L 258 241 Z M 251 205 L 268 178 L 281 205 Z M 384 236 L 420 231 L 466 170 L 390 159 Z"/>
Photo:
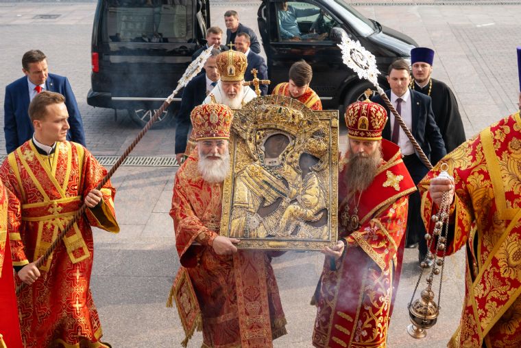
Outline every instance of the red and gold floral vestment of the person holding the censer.
<path id="1" fill-rule="evenodd" d="M 449 347 L 521 346 L 521 117 L 519 112 L 450 152 L 418 185 L 428 231 L 428 185 L 441 163 L 455 178 L 447 255 L 466 246 L 465 300 Z M 436 244 L 433 243 L 433 246 Z M 448 299 L 445 299 L 448 301 Z M 443 303 L 441 304 L 443 305 Z"/>

